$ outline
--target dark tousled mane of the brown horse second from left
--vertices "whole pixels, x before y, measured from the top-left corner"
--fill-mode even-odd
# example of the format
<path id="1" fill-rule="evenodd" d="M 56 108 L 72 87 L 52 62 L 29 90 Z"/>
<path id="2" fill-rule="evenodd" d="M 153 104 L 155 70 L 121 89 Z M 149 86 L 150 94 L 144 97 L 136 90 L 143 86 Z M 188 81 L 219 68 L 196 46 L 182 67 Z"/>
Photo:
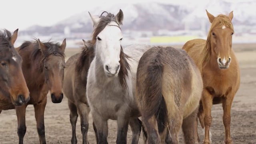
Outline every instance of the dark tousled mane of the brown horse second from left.
<path id="1" fill-rule="evenodd" d="M 30 42 L 30 41 L 23 42 L 22 45 L 20 46 L 20 50 L 29 46 L 30 44 L 33 44 L 34 51 L 31 53 L 31 59 L 32 60 L 35 60 L 39 55 L 42 56 L 42 60 L 44 60 L 45 58 L 47 58 L 51 54 L 53 54 L 54 56 L 61 56 L 62 58 L 65 57 L 64 52 L 62 52 L 60 50 L 60 43 L 58 43 L 58 42 L 42 42 L 42 43 L 47 48 L 47 50 L 44 52 L 44 54 L 42 54 L 42 50 L 40 50 L 40 48 L 39 48 L 39 44 L 38 44 L 37 39 L 35 39 L 32 42 Z"/>

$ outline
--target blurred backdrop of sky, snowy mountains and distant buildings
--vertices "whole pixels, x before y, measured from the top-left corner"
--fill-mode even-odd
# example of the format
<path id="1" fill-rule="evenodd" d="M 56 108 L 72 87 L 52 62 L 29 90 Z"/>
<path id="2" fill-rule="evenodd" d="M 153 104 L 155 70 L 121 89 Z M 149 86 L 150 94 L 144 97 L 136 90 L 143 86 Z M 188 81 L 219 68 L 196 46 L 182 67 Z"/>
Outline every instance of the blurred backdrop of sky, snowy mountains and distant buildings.
<path id="1" fill-rule="evenodd" d="M 8 1 L 1 6 L 0 28 L 13 32 L 19 28 L 15 46 L 24 40 L 62 42 L 67 48 L 79 48 L 82 39 L 91 39 L 92 23 L 88 12 L 124 12 L 122 45 L 132 43 L 182 45 L 194 38 L 206 38 L 210 22 L 208 12 L 229 14 L 234 11 L 233 43 L 256 43 L 256 0 L 24 0 Z"/>

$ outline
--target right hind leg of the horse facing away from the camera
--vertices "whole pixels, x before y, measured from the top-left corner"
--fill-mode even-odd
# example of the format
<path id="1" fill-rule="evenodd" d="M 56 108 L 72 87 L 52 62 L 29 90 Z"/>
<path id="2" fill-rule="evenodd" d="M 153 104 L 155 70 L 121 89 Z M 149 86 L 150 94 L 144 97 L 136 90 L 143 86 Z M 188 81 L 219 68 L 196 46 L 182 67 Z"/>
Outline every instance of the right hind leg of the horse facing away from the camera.
<path id="1" fill-rule="evenodd" d="M 195 132 L 197 132 L 197 113 L 198 108 L 194 110 L 187 118 L 183 119 L 182 131 L 184 134 L 184 140 L 186 144 L 195 144 L 196 137 Z"/>

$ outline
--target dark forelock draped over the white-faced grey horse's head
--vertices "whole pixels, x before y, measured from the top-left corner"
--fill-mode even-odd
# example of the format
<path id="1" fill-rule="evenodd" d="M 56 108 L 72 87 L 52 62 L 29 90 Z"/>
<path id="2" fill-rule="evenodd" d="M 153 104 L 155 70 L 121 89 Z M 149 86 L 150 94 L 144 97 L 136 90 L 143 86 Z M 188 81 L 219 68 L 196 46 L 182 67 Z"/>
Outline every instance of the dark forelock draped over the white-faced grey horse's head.
<path id="1" fill-rule="evenodd" d="M 107 15 L 103 16 L 102 14 L 104 13 L 107 13 Z M 98 22 L 97 26 L 94 28 L 94 31 L 92 33 L 92 44 L 95 44 L 96 37 L 106 27 L 108 23 L 116 22 L 114 14 L 108 13 L 106 11 L 102 12 L 102 14 L 100 15 L 100 21 Z M 116 23 L 118 24 L 118 22 Z M 120 28 L 119 24 L 118 24 L 118 27 Z"/>

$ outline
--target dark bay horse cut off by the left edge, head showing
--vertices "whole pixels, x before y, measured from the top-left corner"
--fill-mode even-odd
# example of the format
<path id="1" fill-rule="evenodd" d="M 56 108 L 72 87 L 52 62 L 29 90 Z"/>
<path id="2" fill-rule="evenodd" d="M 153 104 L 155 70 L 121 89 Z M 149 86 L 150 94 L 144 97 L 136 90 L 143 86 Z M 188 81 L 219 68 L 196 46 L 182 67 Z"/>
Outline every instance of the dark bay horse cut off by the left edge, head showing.
<path id="1" fill-rule="evenodd" d="M 21 69 L 22 58 L 14 48 L 17 37 L 18 29 L 13 34 L 0 31 L 0 113 L 24 105 L 30 99 Z"/>

